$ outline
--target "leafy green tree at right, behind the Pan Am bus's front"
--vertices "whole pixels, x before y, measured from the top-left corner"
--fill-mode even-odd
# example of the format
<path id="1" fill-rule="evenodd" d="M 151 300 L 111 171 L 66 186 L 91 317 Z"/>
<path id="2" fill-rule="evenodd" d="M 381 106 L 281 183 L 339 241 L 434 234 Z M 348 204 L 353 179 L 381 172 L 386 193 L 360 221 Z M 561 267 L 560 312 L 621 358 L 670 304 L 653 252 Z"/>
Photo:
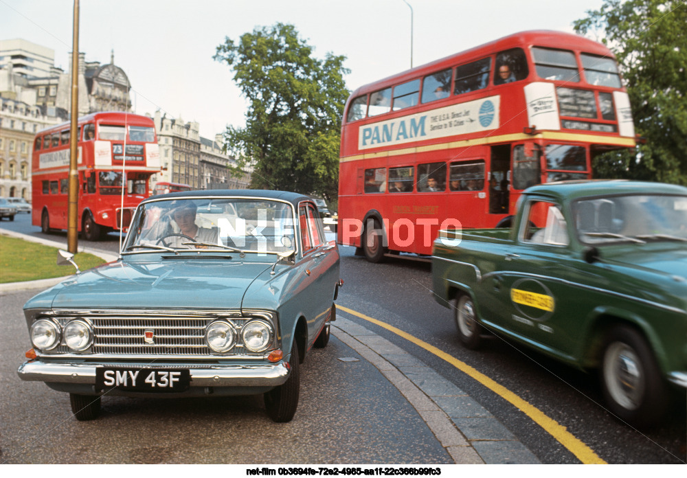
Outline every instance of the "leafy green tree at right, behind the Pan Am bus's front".
<path id="1" fill-rule="evenodd" d="M 596 177 L 687 184 L 687 5 L 684 0 L 604 0 L 574 22 L 596 35 L 618 59 L 637 151 L 609 152 L 594 161 Z"/>

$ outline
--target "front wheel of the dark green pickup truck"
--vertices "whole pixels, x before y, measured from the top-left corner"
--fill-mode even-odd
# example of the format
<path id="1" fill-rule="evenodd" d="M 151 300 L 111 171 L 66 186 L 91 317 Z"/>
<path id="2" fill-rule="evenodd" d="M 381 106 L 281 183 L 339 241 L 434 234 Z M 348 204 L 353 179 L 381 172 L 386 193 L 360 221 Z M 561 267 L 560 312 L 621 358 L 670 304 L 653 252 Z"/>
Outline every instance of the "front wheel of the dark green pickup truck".
<path id="1" fill-rule="evenodd" d="M 649 344 L 637 330 L 611 329 L 600 378 L 604 398 L 618 418 L 638 427 L 660 421 L 668 406 L 668 388 Z"/>

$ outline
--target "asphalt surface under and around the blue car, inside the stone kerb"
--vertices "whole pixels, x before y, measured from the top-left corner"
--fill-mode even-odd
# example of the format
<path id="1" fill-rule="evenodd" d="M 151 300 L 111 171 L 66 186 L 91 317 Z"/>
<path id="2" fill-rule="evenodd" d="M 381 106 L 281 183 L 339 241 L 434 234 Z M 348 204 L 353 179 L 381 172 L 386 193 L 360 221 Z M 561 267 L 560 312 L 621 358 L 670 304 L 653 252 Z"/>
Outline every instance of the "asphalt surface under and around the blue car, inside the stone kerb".
<path id="1" fill-rule="evenodd" d="M 306 357 L 300 403 L 286 424 L 267 418 L 260 396 L 105 397 L 98 420 L 78 422 L 68 394 L 16 376 L 30 348 L 21 308 L 35 292 L 1 297 L 1 462 L 453 463 L 400 392 L 336 337 Z"/>

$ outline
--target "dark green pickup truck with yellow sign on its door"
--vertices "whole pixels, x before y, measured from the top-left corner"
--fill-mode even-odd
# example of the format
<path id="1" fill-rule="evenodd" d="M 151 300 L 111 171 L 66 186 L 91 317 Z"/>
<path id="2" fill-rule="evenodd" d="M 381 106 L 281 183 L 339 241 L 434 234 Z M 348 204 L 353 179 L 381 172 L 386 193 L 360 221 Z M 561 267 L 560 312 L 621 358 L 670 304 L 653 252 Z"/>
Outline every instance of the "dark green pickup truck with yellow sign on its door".
<path id="1" fill-rule="evenodd" d="M 440 231 L 432 276 L 466 347 L 493 332 L 598 369 L 625 422 L 657 422 L 687 388 L 686 187 L 530 187 L 510 229 Z"/>

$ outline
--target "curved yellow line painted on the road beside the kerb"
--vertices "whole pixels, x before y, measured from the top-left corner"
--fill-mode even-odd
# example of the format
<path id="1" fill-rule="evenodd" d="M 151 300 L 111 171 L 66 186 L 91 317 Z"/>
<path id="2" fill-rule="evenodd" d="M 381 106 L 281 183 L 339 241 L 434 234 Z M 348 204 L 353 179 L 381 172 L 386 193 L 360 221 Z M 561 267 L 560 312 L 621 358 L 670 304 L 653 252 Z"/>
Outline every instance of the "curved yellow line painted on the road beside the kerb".
<path id="1" fill-rule="evenodd" d="M 403 330 L 401 329 L 398 329 L 394 326 L 390 326 L 388 323 L 379 321 L 377 319 L 372 319 L 372 317 L 368 317 L 367 315 L 361 314 L 360 312 L 356 312 L 355 310 L 351 310 L 350 308 L 339 306 L 338 304 L 337 310 L 348 312 L 350 315 L 360 317 L 361 319 L 366 320 L 368 322 L 372 322 L 380 327 L 385 328 L 386 330 L 389 330 L 390 332 L 394 332 L 394 334 L 398 335 L 399 337 L 403 337 L 403 339 L 411 341 L 415 345 L 418 345 L 423 349 L 427 350 L 427 352 L 430 352 L 438 356 L 439 358 L 442 358 L 444 361 L 447 361 L 448 363 L 453 365 L 453 367 L 459 369 L 464 374 L 471 376 L 479 383 L 493 391 L 495 394 L 504 398 L 504 400 L 507 400 L 515 407 L 517 407 L 517 409 L 525 413 L 526 416 L 532 419 L 534 423 L 541 426 L 541 428 L 543 428 L 547 433 L 554 437 L 554 439 L 556 439 L 556 441 L 558 441 L 561 445 L 565 446 L 565 448 L 567 448 L 567 450 L 569 450 L 570 453 L 575 455 L 584 464 L 607 464 L 598 455 L 596 455 L 596 453 L 594 453 L 592 448 L 589 448 L 589 446 L 581 442 L 581 440 L 578 440 L 577 437 L 575 437 L 574 435 L 572 435 L 572 433 L 567 431 L 565 426 L 559 424 L 559 422 L 556 422 L 556 420 L 549 418 L 541 410 L 537 409 L 537 407 L 530 405 L 528 402 L 526 402 L 526 400 L 523 400 L 503 385 L 499 385 L 499 383 L 495 382 L 495 380 L 493 380 L 492 378 L 489 378 L 488 376 L 482 374 L 482 372 L 478 372 L 477 369 L 458 360 L 458 358 L 455 358 L 447 354 L 443 350 L 440 350 L 425 341 L 413 337 L 411 334 L 408 334 L 407 332 L 403 332 Z"/>

